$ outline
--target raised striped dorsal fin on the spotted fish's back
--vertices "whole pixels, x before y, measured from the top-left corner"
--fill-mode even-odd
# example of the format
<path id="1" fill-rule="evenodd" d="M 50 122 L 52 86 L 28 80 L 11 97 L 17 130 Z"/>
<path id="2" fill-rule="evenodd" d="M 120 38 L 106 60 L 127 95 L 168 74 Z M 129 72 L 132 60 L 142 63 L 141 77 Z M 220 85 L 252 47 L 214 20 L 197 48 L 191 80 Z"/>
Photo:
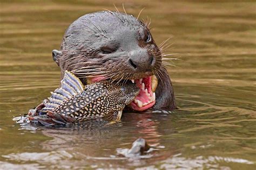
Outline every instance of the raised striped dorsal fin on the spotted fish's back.
<path id="1" fill-rule="evenodd" d="M 60 87 L 51 93 L 49 103 L 41 111 L 52 111 L 64 101 L 71 99 L 83 91 L 83 83 L 74 74 L 66 70 L 64 78 L 60 81 Z"/>

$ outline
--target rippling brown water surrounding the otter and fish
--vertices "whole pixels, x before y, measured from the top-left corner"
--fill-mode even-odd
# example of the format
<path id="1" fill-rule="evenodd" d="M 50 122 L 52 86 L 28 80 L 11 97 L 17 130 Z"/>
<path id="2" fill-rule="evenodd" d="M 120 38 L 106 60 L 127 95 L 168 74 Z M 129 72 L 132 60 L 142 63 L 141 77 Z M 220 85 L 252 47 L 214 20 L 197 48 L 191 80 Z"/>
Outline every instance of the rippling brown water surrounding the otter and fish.
<path id="1" fill-rule="evenodd" d="M 158 44 L 182 61 L 169 67 L 177 104 L 172 113 L 126 113 L 122 123 L 84 130 L 21 127 L 13 117 L 59 84 L 51 51 L 68 25 L 104 1 L 1 1 L 0 169 L 256 168 L 256 18 L 253 1 L 127 1 L 126 11 L 151 18 Z M 158 147 L 127 159 L 138 137 Z"/>

